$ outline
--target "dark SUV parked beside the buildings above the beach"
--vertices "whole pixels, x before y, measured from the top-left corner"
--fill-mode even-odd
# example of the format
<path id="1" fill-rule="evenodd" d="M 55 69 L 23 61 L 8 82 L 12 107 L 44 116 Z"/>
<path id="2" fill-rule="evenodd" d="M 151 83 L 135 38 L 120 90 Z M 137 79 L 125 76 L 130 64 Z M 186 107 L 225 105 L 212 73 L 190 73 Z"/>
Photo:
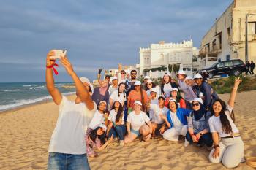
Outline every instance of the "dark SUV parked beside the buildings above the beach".
<path id="1" fill-rule="evenodd" d="M 207 69 L 200 70 L 200 74 L 205 74 L 206 77 L 209 78 L 221 74 L 238 76 L 242 72 L 246 72 L 246 65 L 240 59 L 221 61 L 219 63 L 214 63 L 214 65 Z"/>

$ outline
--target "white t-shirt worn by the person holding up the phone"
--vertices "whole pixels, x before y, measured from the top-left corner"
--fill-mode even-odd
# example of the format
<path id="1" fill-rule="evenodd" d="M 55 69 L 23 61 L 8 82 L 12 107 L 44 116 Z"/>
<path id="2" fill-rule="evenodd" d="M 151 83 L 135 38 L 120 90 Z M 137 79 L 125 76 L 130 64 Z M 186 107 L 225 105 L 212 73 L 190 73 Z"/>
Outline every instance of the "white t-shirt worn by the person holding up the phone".
<path id="1" fill-rule="evenodd" d="M 94 109 L 89 110 L 86 104 L 75 104 L 75 101 L 69 101 L 62 96 L 59 117 L 50 139 L 48 152 L 86 153 L 84 136 L 96 108 L 95 103 Z"/>

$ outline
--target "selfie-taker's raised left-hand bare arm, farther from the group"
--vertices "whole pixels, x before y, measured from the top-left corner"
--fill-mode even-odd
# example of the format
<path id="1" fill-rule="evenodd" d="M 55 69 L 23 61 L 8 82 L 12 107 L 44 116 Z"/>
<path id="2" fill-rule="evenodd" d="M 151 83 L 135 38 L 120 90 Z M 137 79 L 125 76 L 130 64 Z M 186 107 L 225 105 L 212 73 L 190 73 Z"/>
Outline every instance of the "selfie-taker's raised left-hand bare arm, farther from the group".
<path id="1" fill-rule="evenodd" d="M 47 54 L 45 80 L 46 80 L 46 88 L 50 93 L 50 96 L 52 96 L 54 103 L 59 105 L 61 104 L 62 96 L 58 88 L 56 88 L 54 85 L 53 69 L 49 68 L 50 66 L 53 66 L 53 64 L 55 64 L 55 60 L 50 60 L 50 56 L 54 56 L 54 55 L 55 53 L 53 50 L 51 50 Z"/>

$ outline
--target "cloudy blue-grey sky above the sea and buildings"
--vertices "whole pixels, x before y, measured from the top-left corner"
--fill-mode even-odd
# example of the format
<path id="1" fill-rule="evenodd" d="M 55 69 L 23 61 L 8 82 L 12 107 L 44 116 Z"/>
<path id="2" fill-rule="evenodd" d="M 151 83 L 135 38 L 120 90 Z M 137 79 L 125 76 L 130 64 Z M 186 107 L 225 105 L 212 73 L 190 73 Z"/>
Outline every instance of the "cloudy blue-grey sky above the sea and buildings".
<path id="1" fill-rule="evenodd" d="M 79 77 L 139 63 L 139 48 L 195 47 L 231 0 L 1 0 L 0 82 L 45 82 L 45 58 L 66 49 Z M 72 81 L 63 67 L 55 80 Z"/>

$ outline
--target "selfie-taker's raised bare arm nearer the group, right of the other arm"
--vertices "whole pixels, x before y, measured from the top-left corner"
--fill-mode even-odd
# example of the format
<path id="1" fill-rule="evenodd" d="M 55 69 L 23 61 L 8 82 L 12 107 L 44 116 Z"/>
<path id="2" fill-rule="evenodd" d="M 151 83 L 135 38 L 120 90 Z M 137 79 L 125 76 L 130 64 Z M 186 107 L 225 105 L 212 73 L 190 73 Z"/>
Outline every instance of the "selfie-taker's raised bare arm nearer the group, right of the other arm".
<path id="1" fill-rule="evenodd" d="M 61 57 L 61 64 L 66 69 L 67 73 L 72 77 L 72 80 L 75 82 L 75 88 L 77 91 L 77 95 L 86 104 L 86 107 L 89 110 L 94 109 L 94 102 L 91 100 L 91 96 L 89 94 L 89 90 L 83 85 L 83 82 L 78 78 L 78 75 L 73 70 L 72 64 L 69 62 L 67 57 Z"/>

